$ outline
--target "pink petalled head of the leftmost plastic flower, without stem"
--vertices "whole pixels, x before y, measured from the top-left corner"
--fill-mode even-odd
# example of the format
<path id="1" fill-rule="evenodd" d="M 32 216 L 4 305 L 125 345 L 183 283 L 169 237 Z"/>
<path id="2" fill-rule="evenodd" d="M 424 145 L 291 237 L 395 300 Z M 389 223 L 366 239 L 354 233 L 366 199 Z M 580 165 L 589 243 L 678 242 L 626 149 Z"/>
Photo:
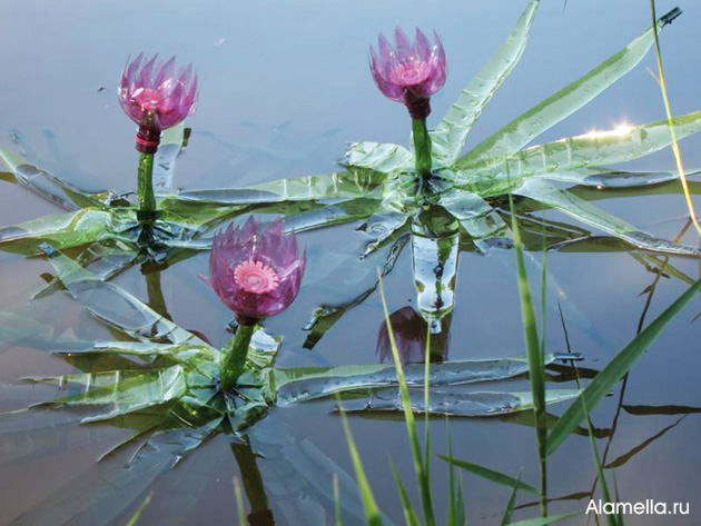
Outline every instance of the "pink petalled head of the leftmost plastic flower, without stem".
<path id="1" fill-rule="evenodd" d="M 158 54 L 145 60 L 140 53 L 125 66 L 118 95 L 125 113 L 137 125 L 165 130 L 195 112 L 197 76 L 192 64 L 176 72 L 175 57 L 162 63 Z"/>

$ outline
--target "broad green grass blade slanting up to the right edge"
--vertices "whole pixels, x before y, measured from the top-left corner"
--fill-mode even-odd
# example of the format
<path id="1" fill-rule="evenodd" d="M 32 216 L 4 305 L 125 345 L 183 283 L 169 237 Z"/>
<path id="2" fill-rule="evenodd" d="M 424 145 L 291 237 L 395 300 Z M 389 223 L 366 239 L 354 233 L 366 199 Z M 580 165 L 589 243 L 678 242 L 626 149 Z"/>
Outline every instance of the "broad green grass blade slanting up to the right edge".
<path id="1" fill-rule="evenodd" d="M 648 350 L 648 348 L 660 337 L 672 319 L 691 301 L 701 290 L 701 280 L 682 294 L 670 305 L 654 321 L 645 327 L 633 340 L 619 353 L 619 355 L 604 367 L 599 375 L 586 386 L 579 398 L 584 400 L 586 408 L 591 411 L 599 401 L 625 376 L 635 361 Z M 585 418 L 582 404 L 573 403 L 562 415 L 550 437 L 547 438 L 547 454 L 554 453 L 567 438 L 567 436 Z"/>

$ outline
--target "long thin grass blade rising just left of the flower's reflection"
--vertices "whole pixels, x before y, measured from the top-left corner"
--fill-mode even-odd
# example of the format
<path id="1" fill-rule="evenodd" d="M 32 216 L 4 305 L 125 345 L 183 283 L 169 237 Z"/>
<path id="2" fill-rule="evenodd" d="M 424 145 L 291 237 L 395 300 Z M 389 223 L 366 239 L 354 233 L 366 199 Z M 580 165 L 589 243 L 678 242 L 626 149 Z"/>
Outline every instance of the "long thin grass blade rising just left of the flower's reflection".
<path id="1" fill-rule="evenodd" d="M 399 357 L 399 349 L 392 330 L 392 321 L 389 320 L 389 309 L 387 308 L 387 299 L 385 297 L 385 284 L 382 277 L 382 270 L 377 269 L 377 276 L 379 281 L 379 296 L 382 298 L 382 308 L 385 314 L 385 324 L 387 324 L 387 334 L 389 336 L 389 346 L 392 347 L 392 357 L 394 358 L 394 366 L 397 371 L 397 380 L 399 383 L 399 393 L 402 394 L 402 405 L 404 407 L 404 419 L 406 421 L 406 430 L 409 436 L 409 444 L 412 447 L 412 456 L 414 459 L 414 473 L 416 474 L 416 483 L 418 485 L 422 509 L 424 515 L 425 526 L 435 525 L 435 515 L 433 512 L 433 497 L 431 495 L 431 482 L 426 477 L 424 468 L 424 460 L 422 458 L 421 444 L 418 441 L 418 434 L 416 431 L 416 421 L 414 419 L 414 413 L 412 409 L 412 400 L 409 398 L 408 388 L 406 387 L 406 378 L 404 376 L 404 366 L 402 365 L 402 358 Z M 426 407 L 427 411 L 428 408 Z"/>

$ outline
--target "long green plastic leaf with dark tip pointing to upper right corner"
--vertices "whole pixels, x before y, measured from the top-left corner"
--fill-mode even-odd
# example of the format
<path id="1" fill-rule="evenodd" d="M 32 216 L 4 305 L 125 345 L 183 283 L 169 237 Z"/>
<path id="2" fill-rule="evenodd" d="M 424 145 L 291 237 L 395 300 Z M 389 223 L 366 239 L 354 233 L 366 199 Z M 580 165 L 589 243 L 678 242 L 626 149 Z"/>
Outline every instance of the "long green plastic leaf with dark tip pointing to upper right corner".
<path id="1" fill-rule="evenodd" d="M 658 21 L 662 29 L 681 11 L 675 9 Z M 478 160 L 505 156 L 521 150 L 533 139 L 557 122 L 586 106 L 602 91 L 632 70 L 648 54 L 654 42 L 653 28 L 648 29 L 630 44 L 570 86 L 531 108 L 517 119 L 477 145 L 457 162 L 471 165 Z M 669 135 L 669 133 L 668 133 Z M 598 161 L 592 163 L 599 165 Z"/>

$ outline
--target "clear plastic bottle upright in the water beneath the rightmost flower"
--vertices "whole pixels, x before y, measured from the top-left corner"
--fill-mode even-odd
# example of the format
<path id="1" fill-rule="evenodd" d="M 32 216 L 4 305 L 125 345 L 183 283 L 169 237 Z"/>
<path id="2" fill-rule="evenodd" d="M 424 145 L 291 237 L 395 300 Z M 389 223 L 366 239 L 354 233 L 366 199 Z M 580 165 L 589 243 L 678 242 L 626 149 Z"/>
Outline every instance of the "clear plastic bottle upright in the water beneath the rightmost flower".
<path id="1" fill-rule="evenodd" d="M 433 206 L 412 222 L 412 264 L 417 304 L 431 333 L 442 331 L 443 318 L 455 306 L 460 224 Z"/>

